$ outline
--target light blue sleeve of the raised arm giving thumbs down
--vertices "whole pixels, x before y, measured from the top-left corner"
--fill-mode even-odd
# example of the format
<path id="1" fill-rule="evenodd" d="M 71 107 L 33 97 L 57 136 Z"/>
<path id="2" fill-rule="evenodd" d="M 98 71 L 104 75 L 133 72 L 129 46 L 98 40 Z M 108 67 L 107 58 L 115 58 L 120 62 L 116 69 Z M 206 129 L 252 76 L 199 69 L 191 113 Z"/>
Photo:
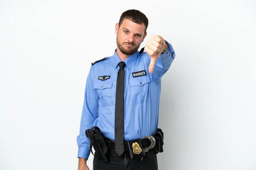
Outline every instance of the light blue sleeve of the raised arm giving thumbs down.
<path id="1" fill-rule="evenodd" d="M 172 45 L 167 41 L 166 44 L 168 45 L 168 49 L 163 54 L 160 54 L 154 66 L 154 71 L 152 73 L 154 82 L 158 82 L 160 80 L 175 59 L 175 51 L 172 48 Z M 148 62 L 150 62 L 150 57 Z"/>

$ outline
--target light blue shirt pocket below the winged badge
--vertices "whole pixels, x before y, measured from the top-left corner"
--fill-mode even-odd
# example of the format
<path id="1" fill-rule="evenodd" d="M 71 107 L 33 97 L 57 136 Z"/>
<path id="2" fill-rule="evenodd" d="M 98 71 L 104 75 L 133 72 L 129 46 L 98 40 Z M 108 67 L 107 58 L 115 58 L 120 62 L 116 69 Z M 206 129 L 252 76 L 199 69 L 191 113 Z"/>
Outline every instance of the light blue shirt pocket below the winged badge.
<path id="1" fill-rule="evenodd" d="M 94 82 L 93 88 L 99 96 L 99 106 L 112 106 L 113 82 Z"/>

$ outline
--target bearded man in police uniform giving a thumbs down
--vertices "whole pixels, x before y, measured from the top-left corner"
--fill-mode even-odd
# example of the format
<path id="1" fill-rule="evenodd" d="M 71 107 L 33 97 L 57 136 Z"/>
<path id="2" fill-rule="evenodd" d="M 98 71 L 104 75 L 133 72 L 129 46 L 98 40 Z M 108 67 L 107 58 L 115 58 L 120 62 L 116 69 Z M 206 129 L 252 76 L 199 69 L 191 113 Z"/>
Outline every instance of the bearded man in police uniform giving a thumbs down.
<path id="1" fill-rule="evenodd" d="M 86 161 L 90 142 L 94 141 L 90 138 L 93 127 L 102 135 L 97 140 L 99 145 L 93 143 L 93 170 L 157 170 L 156 150 L 163 143 L 155 135 L 160 130 L 161 77 L 175 59 L 175 51 L 163 37 L 154 35 L 139 52 L 147 27 L 148 19 L 142 12 L 123 12 L 116 23 L 113 56 L 92 63 L 77 136 L 79 170 L 89 169 Z M 102 154 L 102 150 L 108 151 Z"/>

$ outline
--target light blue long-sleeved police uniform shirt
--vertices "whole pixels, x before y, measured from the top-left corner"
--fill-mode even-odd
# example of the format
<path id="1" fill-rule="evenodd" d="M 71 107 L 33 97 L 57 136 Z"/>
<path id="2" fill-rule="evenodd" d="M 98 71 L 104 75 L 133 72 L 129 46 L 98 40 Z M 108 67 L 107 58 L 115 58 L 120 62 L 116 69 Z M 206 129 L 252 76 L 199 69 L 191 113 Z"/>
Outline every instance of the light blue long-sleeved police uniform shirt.
<path id="1" fill-rule="evenodd" d="M 152 74 L 148 72 L 150 57 L 145 52 L 140 54 L 137 51 L 124 60 L 125 141 L 154 135 L 157 130 L 161 77 L 175 59 L 172 45 L 167 41 L 166 43 L 169 48 L 157 59 Z M 103 136 L 115 139 L 116 79 L 120 61 L 115 50 L 113 56 L 96 62 L 90 68 L 84 92 L 80 132 L 77 136 L 78 157 L 89 158 L 90 139 L 85 136 L 85 130 L 93 126 L 98 126 Z M 105 80 L 101 80 L 103 76 L 107 76 L 104 77 Z"/>

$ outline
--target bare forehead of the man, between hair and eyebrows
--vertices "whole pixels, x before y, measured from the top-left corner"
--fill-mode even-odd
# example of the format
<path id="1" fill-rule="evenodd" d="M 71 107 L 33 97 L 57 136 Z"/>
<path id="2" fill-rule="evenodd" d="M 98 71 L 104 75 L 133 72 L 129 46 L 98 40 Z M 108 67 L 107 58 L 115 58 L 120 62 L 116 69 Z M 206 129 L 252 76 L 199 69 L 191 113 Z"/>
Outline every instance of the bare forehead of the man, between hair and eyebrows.
<path id="1" fill-rule="evenodd" d="M 137 23 L 132 22 L 131 20 L 125 19 L 125 20 L 123 20 L 123 22 L 120 26 L 120 29 L 122 29 L 122 28 L 127 28 L 129 31 L 134 32 L 134 33 L 143 34 L 146 27 L 143 23 L 137 24 Z"/>

